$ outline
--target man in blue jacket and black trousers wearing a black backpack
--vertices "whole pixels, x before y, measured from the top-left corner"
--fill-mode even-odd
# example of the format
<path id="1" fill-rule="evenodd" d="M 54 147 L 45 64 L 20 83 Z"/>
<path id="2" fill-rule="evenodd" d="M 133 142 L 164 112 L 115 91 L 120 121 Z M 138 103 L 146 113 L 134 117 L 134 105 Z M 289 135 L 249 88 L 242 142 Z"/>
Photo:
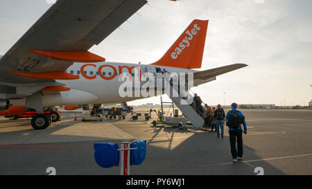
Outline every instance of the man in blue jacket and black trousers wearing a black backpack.
<path id="1" fill-rule="evenodd" d="M 237 104 L 232 103 L 232 110 L 227 111 L 227 126 L 229 127 L 229 143 L 231 143 L 231 153 L 233 161 L 237 162 L 243 158 L 243 129 L 241 124 L 244 126 L 244 134 L 247 134 L 247 125 L 245 122 L 245 116 L 241 111 L 238 111 Z M 237 150 L 236 150 L 237 141 Z"/>

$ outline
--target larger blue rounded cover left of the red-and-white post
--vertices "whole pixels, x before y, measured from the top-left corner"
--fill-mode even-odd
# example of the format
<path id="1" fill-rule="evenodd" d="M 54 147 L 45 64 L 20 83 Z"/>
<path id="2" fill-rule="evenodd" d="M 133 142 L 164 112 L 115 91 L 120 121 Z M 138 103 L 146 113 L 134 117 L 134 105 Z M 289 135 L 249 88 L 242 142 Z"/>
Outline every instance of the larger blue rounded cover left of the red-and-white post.
<path id="1" fill-rule="evenodd" d="M 102 168 L 111 168 L 119 165 L 118 144 L 94 143 L 94 159 Z"/>

